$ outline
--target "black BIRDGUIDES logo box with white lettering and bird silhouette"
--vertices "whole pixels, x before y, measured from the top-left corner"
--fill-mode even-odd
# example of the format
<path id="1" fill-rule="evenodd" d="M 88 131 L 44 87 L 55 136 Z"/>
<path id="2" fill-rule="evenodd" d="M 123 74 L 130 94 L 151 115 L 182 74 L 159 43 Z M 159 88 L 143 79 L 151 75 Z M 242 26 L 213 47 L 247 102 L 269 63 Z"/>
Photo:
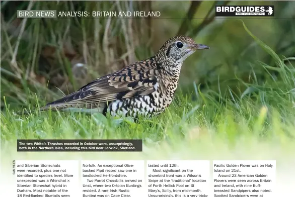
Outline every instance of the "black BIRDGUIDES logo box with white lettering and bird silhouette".
<path id="1" fill-rule="evenodd" d="M 264 16 L 274 17 L 274 6 L 215 6 L 216 17 Z"/>

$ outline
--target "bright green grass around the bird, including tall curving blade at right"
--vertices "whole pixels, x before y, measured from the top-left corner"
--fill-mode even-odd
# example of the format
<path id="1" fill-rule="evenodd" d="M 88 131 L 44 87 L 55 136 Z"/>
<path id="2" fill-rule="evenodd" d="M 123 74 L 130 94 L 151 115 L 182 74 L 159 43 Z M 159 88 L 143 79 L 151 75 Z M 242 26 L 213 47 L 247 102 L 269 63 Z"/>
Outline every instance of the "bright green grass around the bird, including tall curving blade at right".
<path id="1" fill-rule="evenodd" d="M 2 146 L 17 139 L 143 139 L 150 147 L 247 147 L 254 144 L 269 147 L 294 147 L 295 137 L 295 70 L 291 63 L 284 63 L 275 52 L 255 37 L 243 23 L 245 30 L 272 57 L 276 67 L 257 62 L 265 70 L 263 83 L 255 72 L 249 75 L 253 83 L 237 77 L 245 91 L 240 95 L 230 87 L 226 93 L 208 90 L 191 95 L 178 91 L 173 104 L 157 118 L 139 120 L 104 117 L 100 114 L 38 112 L 14 116 L 9 104 L 1 112 Z M 278 72 L 274 78 L 271 70 Z M 221 84 L 218 84 L 221 85 Z M 196 101 L 191 99 L 195 94 Z M 5 96 L 5 94 L 2 94 Z M 31 97 L 35 95 L 31 93 Z M 36 99 L 38 102 L 38 99 Z M 31 105 L 31 108 L 34 108 Z M 222 145 L 220 145 L 222 144 Z M 206 152 L 206 151 L 204 151 Z"/>

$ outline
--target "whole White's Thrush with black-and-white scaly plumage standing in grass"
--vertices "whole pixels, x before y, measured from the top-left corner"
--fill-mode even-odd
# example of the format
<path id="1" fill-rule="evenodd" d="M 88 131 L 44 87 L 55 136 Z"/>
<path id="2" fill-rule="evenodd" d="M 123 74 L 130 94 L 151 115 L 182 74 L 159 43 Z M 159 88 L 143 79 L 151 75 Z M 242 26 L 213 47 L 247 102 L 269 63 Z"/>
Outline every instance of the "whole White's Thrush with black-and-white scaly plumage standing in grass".
<path id="1" fill-rule="evenodd" d="M 151 58 L 95 79 L 40 110 L 158 116 L 172 102 L 183 61 L 195 50 L 208 48 L 190 37 L 172 37 Z"/>

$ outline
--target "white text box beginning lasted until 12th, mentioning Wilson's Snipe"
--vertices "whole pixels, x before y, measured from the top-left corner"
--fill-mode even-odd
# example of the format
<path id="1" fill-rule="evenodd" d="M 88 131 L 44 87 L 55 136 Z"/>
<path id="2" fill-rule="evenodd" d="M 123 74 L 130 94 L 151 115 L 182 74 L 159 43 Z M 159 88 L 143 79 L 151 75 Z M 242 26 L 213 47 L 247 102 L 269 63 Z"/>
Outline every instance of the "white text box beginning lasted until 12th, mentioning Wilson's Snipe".
<path id="1" fill-rule="evenodd" d="M 147 161 L 145 196 L 208 197 L 209 161 Z"/>

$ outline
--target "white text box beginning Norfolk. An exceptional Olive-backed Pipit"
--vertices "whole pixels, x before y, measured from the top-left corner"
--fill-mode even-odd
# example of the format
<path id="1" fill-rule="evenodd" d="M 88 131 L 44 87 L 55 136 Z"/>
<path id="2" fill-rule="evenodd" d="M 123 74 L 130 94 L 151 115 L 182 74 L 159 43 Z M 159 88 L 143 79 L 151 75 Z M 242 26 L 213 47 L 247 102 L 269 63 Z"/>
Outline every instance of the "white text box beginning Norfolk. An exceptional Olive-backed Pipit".
<path id="1" fill-rule="evenodd" d="M 82 193 L 96 197 L 137 197 L 144 188 L 144 161 L 82 161 Z"/>

